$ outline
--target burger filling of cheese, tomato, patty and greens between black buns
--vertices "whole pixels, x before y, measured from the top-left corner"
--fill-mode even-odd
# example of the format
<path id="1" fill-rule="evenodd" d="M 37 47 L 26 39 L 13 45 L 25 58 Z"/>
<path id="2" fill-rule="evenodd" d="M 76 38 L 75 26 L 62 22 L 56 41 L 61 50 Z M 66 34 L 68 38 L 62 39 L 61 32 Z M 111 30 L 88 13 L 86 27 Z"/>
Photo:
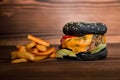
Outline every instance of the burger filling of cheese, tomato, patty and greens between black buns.
<path id="1" fill-rule="evenodd" d="M 75 54 L 84 52 L 94 54 L 106 47 L 105 35 L 87 34 L 84 36 L 63 36 L 61 40 L 61 47 L 70 49 Z"/>

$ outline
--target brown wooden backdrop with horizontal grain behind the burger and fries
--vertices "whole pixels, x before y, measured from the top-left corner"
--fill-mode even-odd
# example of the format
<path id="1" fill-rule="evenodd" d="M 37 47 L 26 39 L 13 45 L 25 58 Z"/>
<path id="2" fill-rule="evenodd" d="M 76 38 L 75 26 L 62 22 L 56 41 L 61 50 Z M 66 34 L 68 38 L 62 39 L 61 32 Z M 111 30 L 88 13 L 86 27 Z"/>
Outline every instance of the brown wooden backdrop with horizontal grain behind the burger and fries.
<path id="1" fill-rule="evenodd" d="M 26 43 L 27 34 L 59 44 L 65 23 L 102 22 L 107 42 L 120 43 L 120 0 L 0 0 L 0 45 Z"/>

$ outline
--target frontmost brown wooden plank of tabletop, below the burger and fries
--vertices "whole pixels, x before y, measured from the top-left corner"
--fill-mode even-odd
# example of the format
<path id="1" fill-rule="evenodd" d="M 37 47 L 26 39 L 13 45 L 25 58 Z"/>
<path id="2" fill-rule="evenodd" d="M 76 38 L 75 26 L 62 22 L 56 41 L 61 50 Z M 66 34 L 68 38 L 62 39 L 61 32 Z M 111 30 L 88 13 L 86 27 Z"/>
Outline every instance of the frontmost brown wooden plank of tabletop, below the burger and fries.
<path id="1" fill-rule="evenodd" d="M 119 80 L 119 62 L 46 62 L 1 64 L 2 80 Z"/>

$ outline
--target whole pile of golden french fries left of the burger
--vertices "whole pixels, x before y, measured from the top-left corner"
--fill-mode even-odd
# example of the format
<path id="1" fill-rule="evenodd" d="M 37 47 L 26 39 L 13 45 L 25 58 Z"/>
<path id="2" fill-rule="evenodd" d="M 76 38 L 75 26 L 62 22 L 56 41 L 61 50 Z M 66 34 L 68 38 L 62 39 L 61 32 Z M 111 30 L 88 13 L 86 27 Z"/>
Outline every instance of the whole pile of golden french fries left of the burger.
<path id="1" fill-rule="evenodd" d="M 56 49 L 55 47 L 50 47 L 50 43 L 33 35 L 28 35 L 27 38 L 31 40 L 29 43 L 17 45 L 18 50 L 11 52 L 11 63 L 56 58 Z"/>

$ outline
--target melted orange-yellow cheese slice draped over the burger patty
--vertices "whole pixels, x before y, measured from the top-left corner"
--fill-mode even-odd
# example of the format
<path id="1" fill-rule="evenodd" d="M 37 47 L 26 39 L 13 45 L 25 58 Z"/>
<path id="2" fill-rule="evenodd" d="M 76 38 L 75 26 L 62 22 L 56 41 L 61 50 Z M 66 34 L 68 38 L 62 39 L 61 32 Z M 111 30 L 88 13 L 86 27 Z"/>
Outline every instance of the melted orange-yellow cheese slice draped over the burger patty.
<path id="1" fill-rule="evenodd" d="M 92 38 L 92 34 L 88 34 L 82 37 L 68 38 L 62 43 L 62 47 L 71 49 L 76 54 L 78 52 L 86 52 L 92 42 Z"/>

